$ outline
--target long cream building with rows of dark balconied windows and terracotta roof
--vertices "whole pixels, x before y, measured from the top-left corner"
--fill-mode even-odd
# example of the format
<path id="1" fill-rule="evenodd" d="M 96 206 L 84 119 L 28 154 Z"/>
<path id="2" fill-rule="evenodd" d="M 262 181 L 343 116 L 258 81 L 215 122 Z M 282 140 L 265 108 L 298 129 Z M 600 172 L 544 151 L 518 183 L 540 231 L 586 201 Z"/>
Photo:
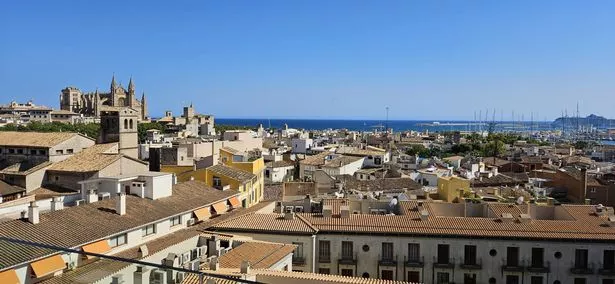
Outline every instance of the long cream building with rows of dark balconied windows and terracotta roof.
<path id="1" fill-rule="evenodd" d="M 612 208 L 399 201 L 248 214 L 210 229 L 297 245 L 294 270 L 423 283 L 613 283 Z M 386 207 L 385 207 L 386 208 Z"/>

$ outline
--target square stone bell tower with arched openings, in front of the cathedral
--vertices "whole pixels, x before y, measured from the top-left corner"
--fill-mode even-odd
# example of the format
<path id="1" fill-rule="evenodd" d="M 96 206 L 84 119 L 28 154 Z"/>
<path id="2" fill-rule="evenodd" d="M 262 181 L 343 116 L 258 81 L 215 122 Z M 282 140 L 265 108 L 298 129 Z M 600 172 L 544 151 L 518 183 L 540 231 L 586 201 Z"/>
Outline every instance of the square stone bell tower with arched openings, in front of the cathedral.
<path id="1" fill-rule="evenodd" d="M 119 143 L 121 154 L 139 158 L 139 113 L 131 108 L 100 112 L 98 143 Z"/>

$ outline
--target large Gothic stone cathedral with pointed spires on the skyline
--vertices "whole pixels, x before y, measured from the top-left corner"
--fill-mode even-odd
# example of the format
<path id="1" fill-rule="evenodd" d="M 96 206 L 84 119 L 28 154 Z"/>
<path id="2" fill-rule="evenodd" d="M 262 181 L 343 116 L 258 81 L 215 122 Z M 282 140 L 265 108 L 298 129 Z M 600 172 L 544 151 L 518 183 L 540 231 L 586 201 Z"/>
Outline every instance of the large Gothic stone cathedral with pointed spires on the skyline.
<path id="1" fill-rule="evenodd" d="M 128 90 L 121 84 L 115 83 L 115 75 L 111 78 L 111 88 L 108 93 L 95 92 L 83 93 L 75 87 L 66 87 L 60 94 L 60 109 L 75 113 L 100 118 L 100 113 L 105 110 L 113 110 L 118 107 L 129 107 L 134 109 L 139 120 L 148 120 L 147 103 L 145 93 L 141 95 L 141 100 L 135 96 L 135 85 L 130 78 Z"/>

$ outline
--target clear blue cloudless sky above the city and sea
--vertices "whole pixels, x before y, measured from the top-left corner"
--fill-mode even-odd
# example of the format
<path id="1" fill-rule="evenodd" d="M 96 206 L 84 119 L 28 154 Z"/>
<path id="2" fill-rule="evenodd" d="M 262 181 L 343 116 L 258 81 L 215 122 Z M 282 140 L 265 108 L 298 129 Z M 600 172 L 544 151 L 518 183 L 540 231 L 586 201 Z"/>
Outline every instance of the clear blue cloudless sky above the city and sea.
<path id="1" fill-rule="evenodd" d="M 1 102 L 133 77 L 152 116 L 615 117 L 615 1 L 4 1 Z M 491 116 L 491 115 L 490 115 Z"/>

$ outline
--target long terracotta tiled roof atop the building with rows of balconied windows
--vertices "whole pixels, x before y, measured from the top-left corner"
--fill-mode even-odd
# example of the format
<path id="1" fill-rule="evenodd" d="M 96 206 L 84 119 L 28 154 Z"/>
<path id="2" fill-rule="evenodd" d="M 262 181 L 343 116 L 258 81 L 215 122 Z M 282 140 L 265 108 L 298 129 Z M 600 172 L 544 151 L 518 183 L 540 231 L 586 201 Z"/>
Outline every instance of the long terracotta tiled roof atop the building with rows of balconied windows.
<path id="1" fill-rule="evenodd" d="M 324 218 L 322 214 L 300 213 L 295 220 L 284 220 L 277 214 L 252 214 L 239 217 L 233 222 L 215 226 L 218 231 L 249 231 L 266 233 L 308 232 L 301 230 L 314 228 L 312 232 L 352 233 L 352 234 L 405 234 L 436 235 L 450 237 L 492 237 L 492 238 L 528 238 L 559 240 L 615 240 L 615 227 L 604 226 L 606 217 L 593 215 L 592 206 L 562 205 L 558 210 L 565 210 L 572 217 L 570 220 L 531 220 L 527 223 L 518 221 L 505 223 L 499 218 L 486 217 L 448 217 L 435 216 L 430 210 L 429 202 L 423 207 L 430 212 L 428 220 L 417 217 L 411 204 L 400 201 L 404 208 L 402 215 L 368 215 L 352 214 L 349 218 L 333 216 Z M 435 203 L 434 203 L 435 204 Z M 444 204 L 446 205 L 446 204 Z M 506 205 L 508 206 L 508 205 Z M 525 212 L 525 207 L 508 210 L 507 207 L 492 207 L 494 213 Z M 407 211 L 409 210 L 409 211 Z M 256 216 L 258 215 L 258 216 Z M 513 215 L 518 218 L 519 216 Z M 297 222 L 300 219 L 301 222 Z"/>

